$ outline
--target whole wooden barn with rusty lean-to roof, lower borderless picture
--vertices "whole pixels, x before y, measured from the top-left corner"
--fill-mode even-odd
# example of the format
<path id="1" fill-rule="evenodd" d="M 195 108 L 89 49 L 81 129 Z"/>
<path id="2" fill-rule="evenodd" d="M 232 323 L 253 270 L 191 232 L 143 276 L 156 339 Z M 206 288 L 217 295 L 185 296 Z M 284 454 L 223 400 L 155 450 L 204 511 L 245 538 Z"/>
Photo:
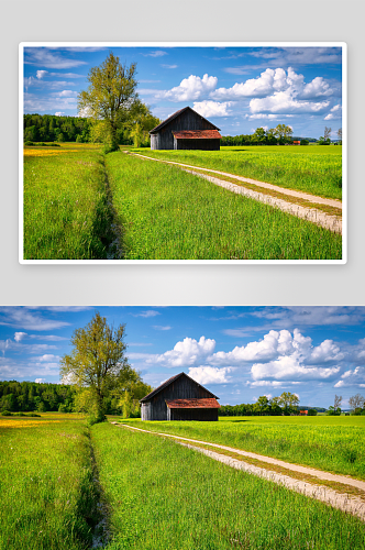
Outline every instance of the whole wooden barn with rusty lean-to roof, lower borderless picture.
<path id="1" fill-rule="evenodd" d="M 142 420 L 218 420 L 219 397 L 185 373 L 141 399 Z"/>

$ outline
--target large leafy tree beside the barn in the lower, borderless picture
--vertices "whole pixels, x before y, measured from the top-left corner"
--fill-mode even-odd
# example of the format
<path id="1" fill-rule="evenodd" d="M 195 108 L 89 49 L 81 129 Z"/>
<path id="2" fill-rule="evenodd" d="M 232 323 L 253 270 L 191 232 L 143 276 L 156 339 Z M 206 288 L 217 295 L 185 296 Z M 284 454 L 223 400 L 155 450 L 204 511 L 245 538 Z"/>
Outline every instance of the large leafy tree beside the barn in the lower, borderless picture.
<path id="1" fill-rule="evenodd" d="M 96 312 L 82 329 L 71 337 L 73 351 L 60 360 L 60 375 L 81 392 L 89 388 L 97 418 L 104 418 L 103 399 L 118 388 L 140 378 L 125 356 L 125 324 L 110 327 L 104 317 Z"/>

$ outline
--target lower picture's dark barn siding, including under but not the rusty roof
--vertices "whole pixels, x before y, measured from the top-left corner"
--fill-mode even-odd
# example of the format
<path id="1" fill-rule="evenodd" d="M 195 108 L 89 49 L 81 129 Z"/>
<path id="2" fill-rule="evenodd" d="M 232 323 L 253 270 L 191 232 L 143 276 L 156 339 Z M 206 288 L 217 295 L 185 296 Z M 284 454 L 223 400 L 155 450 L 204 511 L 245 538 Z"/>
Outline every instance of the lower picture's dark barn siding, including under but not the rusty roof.
<path id="1" fill-rule="evenodd" d="M 206 391 L 202 386 L 196 384 L 192 380 L 180 376 L 176 381 L 172 382 L 166 388 L 162 389 L 147 403 L 142 403 L 141 418 L 142 420 L 168 420 L 168 416 L 173 420 L 172 416 L 178 411 L 178 409 L 170 410 L 168 415 L 168 407 L 166 405 L 166 399 L 190 399 L 190 398 L 209 398 L 211 393 Z M 147 406 L 150 405 L 150 407 Z M 206 416 L 204 410 L 207 409 L 179 409 L 182 410 L 182 415 L 187 415 L 185 410 L 190 410 L 191 414 L 196 415 L 193 420 L 208 420 L 208 418 L 198 418 L 200 416 Z M 203 413 L 203 414 L 202 414 Z M 209 410 L 210 413 L 210 410 Z M 180 413 L 181 414 L 181 413 Z M 201 415 L 202 414 L 202 415 Z M 218 409 L 213 409 L 211 415 L 215 415 L 213 420 L 218 419 Z M 175 418 L 177 420 L 177 418 Z M 181 420 L 192 420 L 192 418 L 180 418 Z"/>

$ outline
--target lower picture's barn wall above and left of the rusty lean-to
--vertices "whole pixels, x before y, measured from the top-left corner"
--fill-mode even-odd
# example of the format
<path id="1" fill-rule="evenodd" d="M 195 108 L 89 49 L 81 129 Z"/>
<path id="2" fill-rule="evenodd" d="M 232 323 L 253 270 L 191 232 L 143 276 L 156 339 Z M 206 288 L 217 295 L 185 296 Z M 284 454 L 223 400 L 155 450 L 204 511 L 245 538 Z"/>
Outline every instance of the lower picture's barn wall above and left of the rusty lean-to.
<path id="1" fill-rule="evenodd" d="M 151 418 L 148 420 L 167 420 L 166 399 L 209 398 L 211 394 L 198 386 L 192 380 L 180 376 L 151 399 Z"/>

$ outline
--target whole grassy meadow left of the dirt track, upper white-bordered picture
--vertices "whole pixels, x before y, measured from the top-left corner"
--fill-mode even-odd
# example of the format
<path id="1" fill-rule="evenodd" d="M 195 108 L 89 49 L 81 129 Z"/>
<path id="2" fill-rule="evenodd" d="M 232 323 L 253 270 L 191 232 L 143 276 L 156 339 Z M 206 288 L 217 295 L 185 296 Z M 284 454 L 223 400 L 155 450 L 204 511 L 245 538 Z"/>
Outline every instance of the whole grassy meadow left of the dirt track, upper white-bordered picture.
<path id="1" fill-rule="evenodd" d="M 24 148 L 23 254 L 25 260 L 341 260 L 342 238 L 175 166 L 68 143 Z"/>

